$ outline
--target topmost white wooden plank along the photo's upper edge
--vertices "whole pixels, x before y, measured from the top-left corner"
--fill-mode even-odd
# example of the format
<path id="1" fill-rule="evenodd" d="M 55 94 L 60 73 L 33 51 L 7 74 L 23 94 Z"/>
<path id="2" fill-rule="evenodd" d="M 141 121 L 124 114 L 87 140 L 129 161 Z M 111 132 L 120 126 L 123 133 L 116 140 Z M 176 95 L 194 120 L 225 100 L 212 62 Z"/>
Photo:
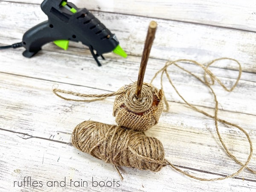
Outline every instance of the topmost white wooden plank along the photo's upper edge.
<path id="1" fill-rule="evenodd" d="M 9 0 L 3 0 L 10 2 Z M 42 0 L 12 0 L 19 3 L 41 4 Z M 105 0 L 70 1 L 80 8 L 144 17 L 164 18 L 206 25 L 224 26 L 256 31 L 256 2 L 254 0 Z"/>

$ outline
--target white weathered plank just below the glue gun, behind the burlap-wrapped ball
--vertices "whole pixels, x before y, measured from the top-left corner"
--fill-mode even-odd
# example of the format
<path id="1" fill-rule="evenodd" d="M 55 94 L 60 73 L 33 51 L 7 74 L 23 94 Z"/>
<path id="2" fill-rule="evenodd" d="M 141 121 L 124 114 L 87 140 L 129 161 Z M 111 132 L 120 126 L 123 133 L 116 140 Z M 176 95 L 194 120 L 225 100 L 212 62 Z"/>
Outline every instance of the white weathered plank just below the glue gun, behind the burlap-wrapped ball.
<path id="1" fill-rule="evenodd" d="M 106 61 L 107 64 L 103 67 L 98 67 L 93 58 L 86 58 L 87 61 L 85 61 L 82 54 L 68 55 L 67 57 L 63 53 L 44 51 L 35 58 L 27 59 L 19 54 L 20 50 L 12 50 L 12 52 L 3 51 L 0 53 L 3 54 L 3 59 L 5 59 L 1 69 L 4 73 L 56 81 L 56 84 L 64 82 L 108 91 L 116 91 L 124 84 L 136 81 L 140 64 L 139 58 L 133 58 L 133 60 L 137 59 L 137 62 L 122 63 L 121 59 L 121 62 Z M 163 67 L 163 64 L 164 62 L 162 61 L 150 60 L 146 70 L 145 82 L 149 82 L 157 70 Z M 193 65 L 187 67 L 187 64 L 183 64 L 183 66 L 196 72 L 198 75 L 202 74 L 198 67 Z M 220 74 L 221 81 L 228 87 L 235 83 L 235 78 L 238 74 L 232 70 L 216 69 L 215 72 L 217 76 Z M 170 74 L 178 90 L 185 96 L 189 94 L 189 97 L 187 97 L 189 102 L 192 102 L 194 105 L 213 108 L 213 97 L 203 84 L 176 67 L 170 68 Z M 256 94 L 256 82 L 254 81 L 256 74 L 244 73 L 242 77 L 244 80 L 239 82 L 238 87 L 232 93 L 227 93 L 219 85 L 215 85 L 220 108 L 227 111 L 255 115 L 256 103 L 253 101 Z M 172 102 L 184 103 L 170 87 L 166 78 L 163 82 L 167 99 Z M 155 80 L 154 85 L 160 87 L 160 79 Z M 59 88 L 76 91 L 73 89 L 73 85 Z M 198 93 L 200 93 L 201 97 L 198 97 Z M 230 99 L 232 102 L 230 102 Z"/>

